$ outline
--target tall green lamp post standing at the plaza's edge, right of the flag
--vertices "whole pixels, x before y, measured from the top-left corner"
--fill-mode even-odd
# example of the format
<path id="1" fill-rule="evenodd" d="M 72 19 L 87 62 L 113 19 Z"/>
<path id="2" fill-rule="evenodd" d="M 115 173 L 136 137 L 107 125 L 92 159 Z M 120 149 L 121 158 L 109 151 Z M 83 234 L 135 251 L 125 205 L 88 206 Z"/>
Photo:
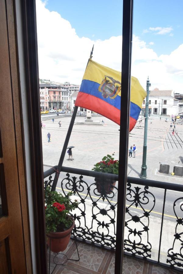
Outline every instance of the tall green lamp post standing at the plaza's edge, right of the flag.
<path id="1" fill-rule="evenodd" d="M 149 118 L 149 87 L 151 84 L 149 83 L 149 76 L 146 82 L 146 108 L 145 108 L 145 125 L 144 125 L 144 145 L 143 145 L 143 160 L 142 160 L 142 167 L 141 167 L 141 173 L 140 178 L 146 179 L 147 173 L 146 173 L 146 156 L 147 156 L 147 128 L 148 128 L 148 118 Z"/>

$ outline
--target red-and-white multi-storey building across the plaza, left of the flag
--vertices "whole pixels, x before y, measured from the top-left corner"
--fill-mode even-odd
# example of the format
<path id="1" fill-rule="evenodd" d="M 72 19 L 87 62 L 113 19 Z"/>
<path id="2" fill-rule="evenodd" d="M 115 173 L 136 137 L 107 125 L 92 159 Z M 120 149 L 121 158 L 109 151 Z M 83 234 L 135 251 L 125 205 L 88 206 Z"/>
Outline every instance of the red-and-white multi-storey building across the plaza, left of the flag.
<path id="1" fill-rule="evenodd" d="M 40 84 L 40 90 L 48 89 L 49 109 L 69 109 L 69 90 L 65 86 L 55 84 Z"/>

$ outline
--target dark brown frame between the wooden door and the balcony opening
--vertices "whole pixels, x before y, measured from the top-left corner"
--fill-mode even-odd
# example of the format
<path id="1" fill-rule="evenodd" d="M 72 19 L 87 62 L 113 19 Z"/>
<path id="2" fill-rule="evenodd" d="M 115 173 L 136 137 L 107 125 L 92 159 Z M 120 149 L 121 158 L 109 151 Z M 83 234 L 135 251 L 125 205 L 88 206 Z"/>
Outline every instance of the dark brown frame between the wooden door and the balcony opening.
<path id="1" fill-rule="evenodd" d="M 16 7 L 16 0 L 13 0 Z M 44 213 L 44 177 L 43 177 L 43 154 L 40 119 L 39 98 L 39 73 L 38 73 L 38 51 L 37 51 L 37 24 L 36 24 L 36 2 L 35 0 L 21 0 L 20 5 L 21 22 L 23 26 L 23 58 L 26 79 L 27 109 L 29 110 L 28 128 L 31 144 L 31 179 L 32 197 L 34 206 L 34 235 L 36 249 L 37 273 L 47 273 L 47 249 Z M 16 18 L 16 8 L 14 9 Z M 16 33 L 16 38 L 18 35 Z M 17 41 L 16 41 L 17 42 Z M 18 44 L 18 43 L 17 43 Z M 17 52 L 18 56 L 18 52 Z M 19 70 L 20 72 L 20 70 Z M 19 87 L 20 75 L 19 75 Z M 21 96 L 20 96 L 21 97 Z M 23 113 L 23 112 L 22 112 Z M 22 119 L 23 121 L 23 119 Z M 25 153 L 25 149 L 24 149 Z M 25 156 L 24 156 L 25 159 Z M 26 160 L 25 160 L 26 162 Z"/>

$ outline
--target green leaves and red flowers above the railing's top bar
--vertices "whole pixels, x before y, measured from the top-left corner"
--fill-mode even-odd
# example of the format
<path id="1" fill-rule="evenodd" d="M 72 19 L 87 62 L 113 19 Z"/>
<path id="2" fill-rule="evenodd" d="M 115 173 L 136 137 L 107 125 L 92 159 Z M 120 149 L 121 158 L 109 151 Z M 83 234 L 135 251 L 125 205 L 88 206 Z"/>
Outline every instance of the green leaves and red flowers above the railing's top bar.
<path id="1" fill-rule="evenodd" d="M 92 168 L 93 171 L 105 172 L 111 174 L 118 174 L 119 161 L 114 160 L 114 153 L 111 155 L 107 154 L 102 158 L 102 161 L 96 163 Z"/>

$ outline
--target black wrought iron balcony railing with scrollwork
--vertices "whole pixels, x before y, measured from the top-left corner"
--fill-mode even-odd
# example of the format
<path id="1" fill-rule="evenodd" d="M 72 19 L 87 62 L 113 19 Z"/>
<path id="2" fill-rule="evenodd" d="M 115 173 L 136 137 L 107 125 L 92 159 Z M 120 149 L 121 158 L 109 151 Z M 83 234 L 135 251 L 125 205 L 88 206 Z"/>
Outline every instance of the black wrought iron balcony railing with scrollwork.
<path id="1" fill-rule="evenodd" d="M 52 174 L 55 172 L 57 172 L 57 166 L 44 172 L 44 178 L 48 177 L 44 182 L 45 186 L 52 185 Z M 75 194 L 74 199 L 77 196 L 79 201 L 79 207 L 72 212 L 76 223 L 74 233 L 77 239 L 114 250 L 117 195 L 120 195 L 115 185 L 118 175 L 71 167 L 62 167 L 61 174 L 57 191 L 61 191 L 64 195 L 72 191 Z M 95 180 L 91 181 L 91 177 L 95 177 Z M 163 192 L 163 197 L 156 199 L 156 196 L 160 195 L 160 190 Z M 173 202 L 168 204 L 174 216 L 165 214 L 167 190 L 175 191 L 171 193 Z M 173 196 L 175 193 L 176 199 Z M 125 254 L 183 270 L 182 193 L 183 186 L 180 184 L 128 177 Z M 154 211 L 157 204 L 162 208 L 161 212 Z M 153 217 L 155 214 L 159 214 L 160 219 Z M 166 220 L 164 220 L 165 217 Z M 168 218 L 173 218 L 173 221 Z M 168 230 L 170 224 L 171 233 Z M 154 248 L 155 245 L 156 248 Z"/>

